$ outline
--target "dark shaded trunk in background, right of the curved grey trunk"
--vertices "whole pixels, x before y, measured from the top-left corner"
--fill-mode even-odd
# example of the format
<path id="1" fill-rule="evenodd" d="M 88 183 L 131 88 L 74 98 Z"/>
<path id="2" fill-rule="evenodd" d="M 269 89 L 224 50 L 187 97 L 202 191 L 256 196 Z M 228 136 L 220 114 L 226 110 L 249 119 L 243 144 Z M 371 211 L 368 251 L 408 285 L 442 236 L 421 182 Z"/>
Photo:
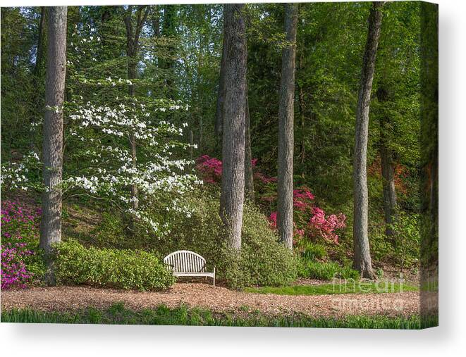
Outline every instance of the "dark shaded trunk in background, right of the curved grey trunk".
<path id="1" fill-rule="evenodd" d="M 379 85 L 377 89 L 377 100 L 381 105 L 389 101 L 390 95 L 384 84 Z M 396 222 L 396 190 L 395 190 L 395 163 L 393 162 L 393 150 L 388 142 L 388 131 L 390 129 L 390 118 L 386 115 L 380 117 L 380 157 L 381 157 L 381 174 L 382 185 L 384 187 L 384 215 L 385 215 L 385 234 L 386 237 L 393 239 L 395 230 L 393 224 Z"/>

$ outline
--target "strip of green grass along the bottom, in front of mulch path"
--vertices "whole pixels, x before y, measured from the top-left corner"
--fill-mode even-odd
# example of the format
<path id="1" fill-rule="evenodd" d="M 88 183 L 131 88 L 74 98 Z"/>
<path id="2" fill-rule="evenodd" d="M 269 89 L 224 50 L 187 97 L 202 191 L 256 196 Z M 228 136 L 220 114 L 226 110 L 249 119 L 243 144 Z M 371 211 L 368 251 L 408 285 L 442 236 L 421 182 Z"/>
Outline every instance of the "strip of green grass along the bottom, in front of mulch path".
<path id="1" fill-rule="evenodd" d="M 419 316 L 388 317 L 347 316 L 345 318 L 310 318 L 304 315 L 273 317 L 261 313 L 213 313 L 199 308 L 167 308 L 131 311 L 117 303 L 106 310 L 86 308 L 74 313 L 25 310 L 3 311 L 1 322 L 26 323 L 78 323 L 116 325 L 200 325 L 200 326 L 260 326 L 260 327 L 324 327 L 324 328 L 376 328 L 419 329 Z M 427 325 L 437 325 L 438 319 L 427 320 Z"/>

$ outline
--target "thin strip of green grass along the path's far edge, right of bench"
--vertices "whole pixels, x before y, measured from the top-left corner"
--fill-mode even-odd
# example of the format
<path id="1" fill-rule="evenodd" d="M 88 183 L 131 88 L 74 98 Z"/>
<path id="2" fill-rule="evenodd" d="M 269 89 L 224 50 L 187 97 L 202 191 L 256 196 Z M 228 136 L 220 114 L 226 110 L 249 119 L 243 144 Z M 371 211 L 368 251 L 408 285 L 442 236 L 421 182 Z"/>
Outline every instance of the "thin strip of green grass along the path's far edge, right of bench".
<path id="1" fill-rule="evenodd" d="M 247 287 L 245 292 L 278 295 L 367 294 L 416 292 L 418 287 L 388 282 L 347 282 L 346 284 L 294 285 L 291 287 Z"/>

